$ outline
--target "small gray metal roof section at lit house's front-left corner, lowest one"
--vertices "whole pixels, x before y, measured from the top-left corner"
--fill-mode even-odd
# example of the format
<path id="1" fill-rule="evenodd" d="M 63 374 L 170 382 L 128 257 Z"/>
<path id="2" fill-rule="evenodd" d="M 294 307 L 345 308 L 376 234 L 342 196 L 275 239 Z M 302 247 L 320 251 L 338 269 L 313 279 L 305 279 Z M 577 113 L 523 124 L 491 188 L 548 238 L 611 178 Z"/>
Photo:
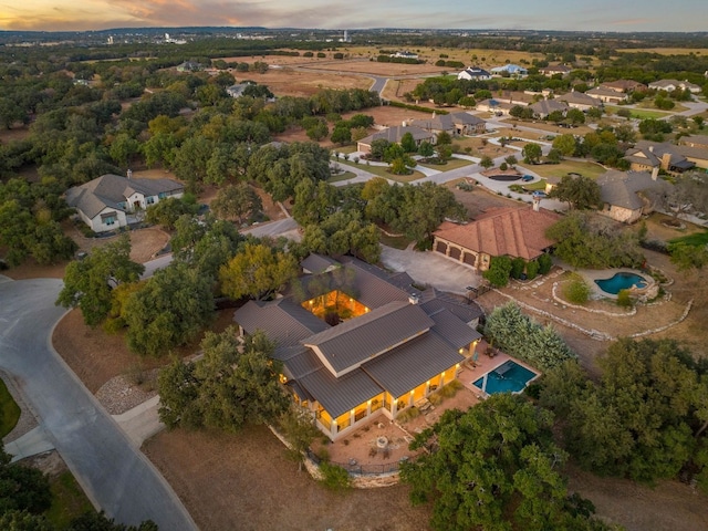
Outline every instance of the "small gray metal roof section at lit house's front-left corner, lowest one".
<path id="1" fill-rule="evenodd" d="M 303 376 L 299 384 L 316 398 L 332 418 L 339 417 L 383 392 L 361 368 L 336 378 L 322 367 Z"/>

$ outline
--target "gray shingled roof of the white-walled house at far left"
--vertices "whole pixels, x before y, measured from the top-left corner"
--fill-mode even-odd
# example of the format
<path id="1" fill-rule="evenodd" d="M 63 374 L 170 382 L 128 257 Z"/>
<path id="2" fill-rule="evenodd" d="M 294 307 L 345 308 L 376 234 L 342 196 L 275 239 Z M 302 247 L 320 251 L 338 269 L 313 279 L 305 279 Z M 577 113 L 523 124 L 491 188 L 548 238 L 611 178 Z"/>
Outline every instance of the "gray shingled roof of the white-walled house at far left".
<path id="1" fill-rule="evenodd" d="M 106 174 L 66 190 L 66 204 L 80 209 L 88 218 L 94 218 L 106 207 L 125 211 L 126 208 L 119 204 L 135 192 L 148 197 L 181 189 L 184 186 L 171 179 L 128 179 L 121 175 Z"/>

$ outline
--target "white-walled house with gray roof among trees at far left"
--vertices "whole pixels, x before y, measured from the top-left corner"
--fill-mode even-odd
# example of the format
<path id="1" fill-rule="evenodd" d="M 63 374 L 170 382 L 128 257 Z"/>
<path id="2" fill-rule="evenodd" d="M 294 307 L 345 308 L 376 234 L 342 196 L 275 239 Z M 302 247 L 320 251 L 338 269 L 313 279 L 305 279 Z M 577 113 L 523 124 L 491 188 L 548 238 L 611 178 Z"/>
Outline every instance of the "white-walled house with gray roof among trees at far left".
<path id="1" fill-rule="evenodd" d="M 168 197 L 181 197 L 184 191 L 184 186 L 171 179 L 106 174 L 66 190 L 66 204 L 94 232 L 106 232 L 133 222 L 133 212 Z"/>

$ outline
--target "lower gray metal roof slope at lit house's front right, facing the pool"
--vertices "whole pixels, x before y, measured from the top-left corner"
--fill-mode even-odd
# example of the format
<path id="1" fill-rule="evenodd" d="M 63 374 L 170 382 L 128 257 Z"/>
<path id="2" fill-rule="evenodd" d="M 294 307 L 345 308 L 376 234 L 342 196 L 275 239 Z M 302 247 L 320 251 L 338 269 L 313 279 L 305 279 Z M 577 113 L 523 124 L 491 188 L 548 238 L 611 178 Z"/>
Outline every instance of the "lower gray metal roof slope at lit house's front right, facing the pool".
<path id="1" fill-rule="evenodd" d="M 455 347 L 433 333 L 365 363 L 362 369 L 398 397 L 464 361 Z"/>

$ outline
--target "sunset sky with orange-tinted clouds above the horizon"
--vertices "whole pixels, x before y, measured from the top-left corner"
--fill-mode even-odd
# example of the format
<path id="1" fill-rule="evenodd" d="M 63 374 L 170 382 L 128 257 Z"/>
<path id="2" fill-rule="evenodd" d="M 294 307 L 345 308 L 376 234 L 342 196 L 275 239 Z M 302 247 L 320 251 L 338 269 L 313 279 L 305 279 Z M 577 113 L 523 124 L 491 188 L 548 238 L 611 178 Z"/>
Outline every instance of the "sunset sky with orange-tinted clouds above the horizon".
<path id="1" fill-rule="evenodd" d="M 0 0 L 0 30 L 217 25 L 708 31 L 706 0 Z"/>

